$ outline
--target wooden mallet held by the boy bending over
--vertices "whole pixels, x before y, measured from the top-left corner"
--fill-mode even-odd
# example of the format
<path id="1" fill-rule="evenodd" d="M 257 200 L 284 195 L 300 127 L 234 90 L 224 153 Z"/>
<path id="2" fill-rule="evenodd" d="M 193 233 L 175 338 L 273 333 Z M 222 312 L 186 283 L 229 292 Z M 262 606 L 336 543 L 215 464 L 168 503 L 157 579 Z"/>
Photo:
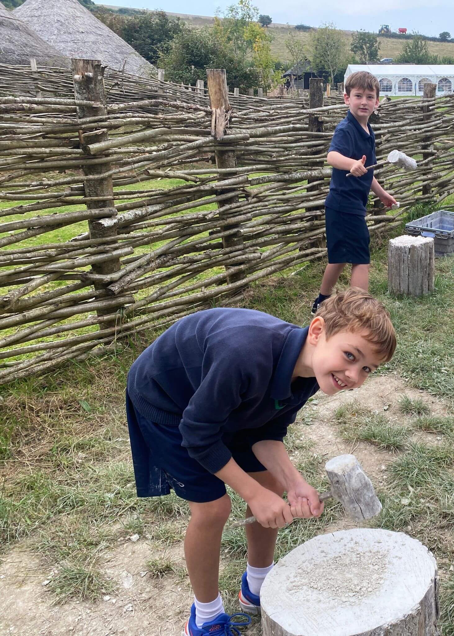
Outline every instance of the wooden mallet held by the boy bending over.
<path id="1" fill-rule="evenodd" d="M 361 468 L 355 455 L 339 455 L 325 464 L 326 474 L 331 489 L 319 496 L 319 501 L 337 499 L 345 512 L 356 522 L 378 515 L 382 504 L 375 494 L 374 487 Z M 232 523 L 231 528 L 238 528 L 247 523 L 254 523 L 254 516 Z"/>

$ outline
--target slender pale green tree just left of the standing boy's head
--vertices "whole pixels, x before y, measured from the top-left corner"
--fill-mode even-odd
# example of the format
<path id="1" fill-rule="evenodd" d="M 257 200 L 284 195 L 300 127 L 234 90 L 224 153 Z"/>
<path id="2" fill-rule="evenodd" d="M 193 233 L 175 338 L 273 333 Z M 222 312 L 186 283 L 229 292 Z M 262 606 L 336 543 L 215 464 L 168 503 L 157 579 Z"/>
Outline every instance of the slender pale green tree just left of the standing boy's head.
<path id="1" fill-rule="evenodd" d="M 347 57 L 347 46 L 342 31 L 333 22 L 327 22 L 313 31 L 310 38 L 310 59 L 316 73 L 329 74 L 331 83 Z"/>

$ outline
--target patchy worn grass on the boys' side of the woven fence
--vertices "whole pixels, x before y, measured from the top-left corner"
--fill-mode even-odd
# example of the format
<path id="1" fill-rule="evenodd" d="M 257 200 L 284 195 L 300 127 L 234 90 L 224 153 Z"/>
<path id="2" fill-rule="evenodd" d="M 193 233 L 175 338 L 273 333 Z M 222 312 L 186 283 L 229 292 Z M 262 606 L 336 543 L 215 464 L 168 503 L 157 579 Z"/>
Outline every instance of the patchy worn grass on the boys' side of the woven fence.
<path id="1" fill-rule="evenodd" d="M 443 397 L 449 411 L 454 406 L 454 259 L 437 260 L 432 296 L 394 297 L 387 294 L 386 240 L 373 239 L 373 243 L 371 291 L 389 309 L 398 333 L 395 359 L 378 373 L 396 373 L 434 399 Z M 323 263 L 315 263 L 292 277 L 281 273 L 259 282 L 251 287 L 244 306 L 305 324 L 322 270 Z M 347 282 L 344 275 L 340 285 Z M 125 425 L 128 368 L 158 333 L 136 336 L 117 354 L 68 363 L 58 373 L 0 387 L 0 540 L 4 550 L 15 543 L 27 547 L 55 571 L 46 590 L 56 599 L 99 598 L 113 590 L 115 581 L 104 574 L 106 560 L 117 541 L 128 541 L 132 534 L 151 542 L 149 576 L 186 580 L 182 564 L 172 561 L 170 569 L 170 558 L 162 551 L 181 544 L 188 506 L 174 494 L 137 499 Z M 336 412 L 336 426 L 347 438 L 393 453 L 386 492 L 380 494 L 383 512 L 378 524 L 408 532 L 434 551 L 444 581 L 443 633 L 454 636 L 449 571 L 454 562 L 453 417 L 435 417 L 424 410 L 427 403 L 406 397 L 405 414 L 399 414 L 406 418 L 406 426 L 396 426 L 390 411 L 377 413 L 356 401 Z M 306 435 L 311 413 L 303 411 L 306 425 L 292 425 L 285 443 L 301 473 L 322 490 L 327 486 L 324 457 Z M 409 441 L 411 430 L 443 439 Z M 232 519 L 244 515 L 244 502 L 237 495 L 232 496 L 232 504 Z M 275 558 L 333 529 L 342 517 L 339 504 L 326 502 L 326 513 L 319 520 L 300 520 L 280 530 Z M 244 531 L 226 529 L 221 591 L 231 611 L 237 611 L 246 551 Z M 143 569 L 148 569 L 146 562 Z"/>

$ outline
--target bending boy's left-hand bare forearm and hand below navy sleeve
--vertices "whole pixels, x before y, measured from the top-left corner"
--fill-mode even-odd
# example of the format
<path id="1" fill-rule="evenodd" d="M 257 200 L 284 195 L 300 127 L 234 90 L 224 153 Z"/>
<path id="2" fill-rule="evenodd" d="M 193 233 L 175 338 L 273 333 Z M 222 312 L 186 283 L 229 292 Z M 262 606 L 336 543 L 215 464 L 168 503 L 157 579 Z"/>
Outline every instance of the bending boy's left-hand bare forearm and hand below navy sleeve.
<path id="1" fill-rule="evenodd" d="M 214 474 L 244 499 L 251 508 L 252 515 L 265 528 L 282 528 L 285 523 L 293 521 L 294 515 L 289 504 L 245 473 L 233 457 Z"/>

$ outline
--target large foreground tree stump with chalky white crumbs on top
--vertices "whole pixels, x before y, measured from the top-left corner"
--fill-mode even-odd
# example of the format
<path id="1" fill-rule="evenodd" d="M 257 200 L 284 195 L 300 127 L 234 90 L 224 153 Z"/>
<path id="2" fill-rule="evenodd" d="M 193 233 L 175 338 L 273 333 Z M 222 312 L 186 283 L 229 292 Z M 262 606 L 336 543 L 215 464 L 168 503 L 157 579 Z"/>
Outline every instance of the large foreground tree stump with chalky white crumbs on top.
<path id="1" fill-rule="evenodd" d="M 437 584 L 432 553 L 402 532 L 330 532 L 266 576 L 263 636 L 437 636 Z"/>

